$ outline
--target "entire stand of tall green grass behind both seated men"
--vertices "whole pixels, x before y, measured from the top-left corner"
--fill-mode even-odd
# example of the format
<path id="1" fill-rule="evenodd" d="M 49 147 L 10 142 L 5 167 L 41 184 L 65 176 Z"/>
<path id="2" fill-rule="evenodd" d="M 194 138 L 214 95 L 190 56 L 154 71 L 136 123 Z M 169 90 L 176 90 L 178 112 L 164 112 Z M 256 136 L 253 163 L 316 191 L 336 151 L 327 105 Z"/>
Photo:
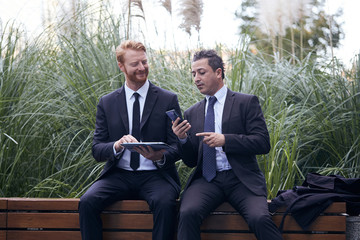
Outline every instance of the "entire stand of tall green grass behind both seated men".
<path id="1" fill-rule="evenodd" d="M 59 23 L 33 40 L 10 24 L 1 33 L 0 196 L 79 197 L 101 172 L 91 156 L 96 105 L 124 83 L 114 49 L 126 30 L 122 16 L 94 11 L 95 20 L 82 10 L 67 32 Z M 336 59 L 269 62 L 242 41 L 214 48 L 227 86 L 259 96 L 272 145 L 258 156 L 269 198 L 308 172 L 360 176 L 359 60 L 346 71 Z M 190 74 L 194 51 L 148 46 L 149 79 L 175 92 L 182 111 L 203 98 Z M 191 169 L 177 167 L 184 185 Z"/>

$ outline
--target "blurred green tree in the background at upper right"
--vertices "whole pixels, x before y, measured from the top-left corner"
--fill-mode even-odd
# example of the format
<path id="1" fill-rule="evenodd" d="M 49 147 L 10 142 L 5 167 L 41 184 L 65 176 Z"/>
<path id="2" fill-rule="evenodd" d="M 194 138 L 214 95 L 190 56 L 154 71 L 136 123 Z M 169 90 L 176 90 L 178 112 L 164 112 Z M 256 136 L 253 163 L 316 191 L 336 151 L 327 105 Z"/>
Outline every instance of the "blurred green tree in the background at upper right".
<path id="1" fill-rule="evenodd" d="M 276 2 L 273 1 L 273 4 L 276 4 Z M 297 2 L 293 1 L 293 4 L 297 4 Z M 340 20 L 343 13 L 342 9 L 339 9 L 333 15 L 327 14 L 325 12 L 324 0 L 309 0 L 309 2 L 311 10 L 306 15 L 301 13 L 301 9 L 298 12 L 291 12 L 293 10 L 282 8 L 285 13 L 290 12 L 289 16 L 293 18 L 295 15 L 302 15 L 296 23 L 289 24 L 289 19 L 283 19 L 284 22 L 278 22 L 278 19 L 269 18 L 266 23 L 267 28 L 271 29 L 272 25 L 280 25 L 278 27 L 290 25 L 286 28 L 284 36 L 281 34 L 271 36 L 261 31 L 261 28 L 264 27 L 262 25 L 265 24 L 259 23 L 261 1 L 244 0 L 235 14 L 241 20 L 241 25 L 239 26 L 240 33 L 249 36 L 254 47 L 267 55 L 274 55 L 275 53 L 279 57 L 286 59 L 296 56 L 302 60 L 303 56 L 311 53 L 313 58 L 321 58 L 322 55 L 328 53 L 330 48 L 336 48 L 340 44 L 340 40 L 344 35 Z M 271 10 L 269 9 L 268 11 Z M 285 14 L 281 13 L 279 15 Z M 275 16 L 275 14 L 272 14 L 272 16 Z M 272 41 L 277 44 L 272 46 L 274 44 Z"/>

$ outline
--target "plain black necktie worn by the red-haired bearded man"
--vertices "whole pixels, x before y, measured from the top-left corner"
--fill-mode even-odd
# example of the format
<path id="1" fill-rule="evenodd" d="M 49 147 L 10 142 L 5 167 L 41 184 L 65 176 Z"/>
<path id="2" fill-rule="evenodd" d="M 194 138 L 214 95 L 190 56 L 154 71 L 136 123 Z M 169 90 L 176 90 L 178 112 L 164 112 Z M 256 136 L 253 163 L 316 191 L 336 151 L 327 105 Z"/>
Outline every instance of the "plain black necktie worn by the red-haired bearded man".
<path id="1" fill-rule="evenodd" d="M 133 105 L 133 127 L 131 135 L 140 142 L 140 104 L 139 94 L 134 93 L 135 102 Z M 140 165 L 140 155 L 137 152 L 131 152 L 130 167 L 134 170 L 138 169 Z"/>

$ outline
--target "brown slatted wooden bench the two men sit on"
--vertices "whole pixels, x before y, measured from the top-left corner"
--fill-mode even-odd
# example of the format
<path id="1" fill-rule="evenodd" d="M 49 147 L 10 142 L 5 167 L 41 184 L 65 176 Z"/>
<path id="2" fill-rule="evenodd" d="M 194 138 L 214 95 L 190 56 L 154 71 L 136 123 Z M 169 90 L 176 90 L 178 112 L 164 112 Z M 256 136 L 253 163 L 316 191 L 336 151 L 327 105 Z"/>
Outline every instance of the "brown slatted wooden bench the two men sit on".
<path id="1" fill-rule="evenodd" d="M 0 198 L 1 240 L 81 239 L 79 199 Z M 279 225 L 284 209 L 273 216 Z M 291 216 L 284 224 L 285 240 L 345 240 L 346 205 L 333 203 L 309 231 Z M 145 201 L 119 201 L 102 214 L 104 240 L 151 240 L 152 214 Z M 202 240 L 256 240 L 244 219 L 228 204 L 218 207 L 202 224 Z"/>

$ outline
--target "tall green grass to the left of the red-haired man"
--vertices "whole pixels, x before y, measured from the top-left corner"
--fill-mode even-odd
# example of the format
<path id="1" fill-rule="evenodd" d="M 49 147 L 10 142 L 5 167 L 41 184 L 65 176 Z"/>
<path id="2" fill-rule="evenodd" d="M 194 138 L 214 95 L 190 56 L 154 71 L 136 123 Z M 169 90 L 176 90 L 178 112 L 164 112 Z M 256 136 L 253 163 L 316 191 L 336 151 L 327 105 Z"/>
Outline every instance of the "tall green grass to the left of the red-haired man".
<path id="1" fill-rule="evenodd" d="M 99 174 L 103 163 L 91 156 L 96 105 L 124 79 L 111 51 L 122 41 L 119 22 L 96 24 L 73 24 L 71 36 L 50 29 L 27 44 L 14 28 L 2 34 L 2 196 L 78 196 Z"/>

